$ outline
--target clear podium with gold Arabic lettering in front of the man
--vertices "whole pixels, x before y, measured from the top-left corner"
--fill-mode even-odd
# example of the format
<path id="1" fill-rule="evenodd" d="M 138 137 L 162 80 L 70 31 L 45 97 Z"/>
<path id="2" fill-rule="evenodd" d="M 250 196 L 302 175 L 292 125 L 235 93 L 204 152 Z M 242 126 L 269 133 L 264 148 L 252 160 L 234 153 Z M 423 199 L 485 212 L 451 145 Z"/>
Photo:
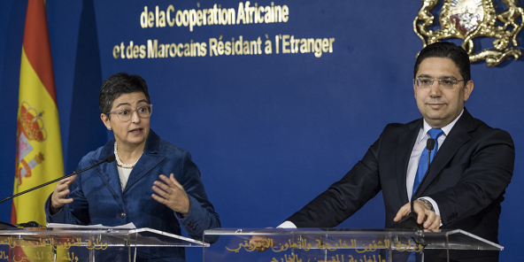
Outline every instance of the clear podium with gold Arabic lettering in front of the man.
<path id="1" fill-rule="evenodd" d="M 463 230 L 218 228 L 204 235 L 220 235 L 204 249 L 204 262 L 405 262 L 410 254 L 449 261 L 452 250 L 504 250 Z"/>

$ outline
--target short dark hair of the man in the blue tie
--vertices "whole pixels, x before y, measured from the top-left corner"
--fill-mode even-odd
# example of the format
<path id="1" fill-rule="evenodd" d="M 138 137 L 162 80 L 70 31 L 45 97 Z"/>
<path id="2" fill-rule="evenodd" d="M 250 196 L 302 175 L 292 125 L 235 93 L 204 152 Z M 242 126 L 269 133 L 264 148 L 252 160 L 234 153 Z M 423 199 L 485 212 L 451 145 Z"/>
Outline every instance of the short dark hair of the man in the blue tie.
<path id="1" fill-rule="evenodd" d="M 426 58 L 450 58 L 459 68 L 459 73 L 464 79 L 464 83 L 466 84 L 467 81 L 471 80 L 469 55 L 467 55 L 466 50 L 453 42 L 434 42 L 421 50 L 417 62 L 415 62 L 413 78 L 417 77 L 420 63 Z"/>

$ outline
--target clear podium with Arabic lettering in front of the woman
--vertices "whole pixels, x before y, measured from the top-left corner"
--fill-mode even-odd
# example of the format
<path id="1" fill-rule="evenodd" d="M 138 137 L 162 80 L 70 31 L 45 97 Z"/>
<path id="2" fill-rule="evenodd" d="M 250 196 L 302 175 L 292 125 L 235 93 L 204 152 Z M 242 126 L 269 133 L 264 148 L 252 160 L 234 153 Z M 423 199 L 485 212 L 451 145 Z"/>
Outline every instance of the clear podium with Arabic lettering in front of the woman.
<path id="1" fill-rule="evenodd" d="M 0 231 L 0 261 L 129 261 L 140 250 L 209 247 L 209 243 L 151 228 L 9 228 Z"/>

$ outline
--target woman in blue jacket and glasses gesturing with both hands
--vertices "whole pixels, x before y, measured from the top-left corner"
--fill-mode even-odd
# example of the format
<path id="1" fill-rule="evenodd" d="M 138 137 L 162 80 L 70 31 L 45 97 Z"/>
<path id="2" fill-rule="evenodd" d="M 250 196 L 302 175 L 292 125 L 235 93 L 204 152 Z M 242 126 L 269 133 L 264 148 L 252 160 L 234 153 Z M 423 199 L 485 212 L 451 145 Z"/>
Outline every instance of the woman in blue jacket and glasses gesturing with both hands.
<path id="1" fill-rule="evenodd" d="M 89 152 L 78 170 L 115 154 L 116 161 L 59 181 L 46 204 L 48 222 L 119 226 L 133 222 L 202 240 L 220 227 L 188 151 L 150 130 L 152 105 L 142 77 L 117 73 L 102 84 L 100 118 L 114 139 Z M 216 239 L 206 239 L 215 242 Z M 183 248 L 138 248 L 141 259 L 185 261 Z"/>

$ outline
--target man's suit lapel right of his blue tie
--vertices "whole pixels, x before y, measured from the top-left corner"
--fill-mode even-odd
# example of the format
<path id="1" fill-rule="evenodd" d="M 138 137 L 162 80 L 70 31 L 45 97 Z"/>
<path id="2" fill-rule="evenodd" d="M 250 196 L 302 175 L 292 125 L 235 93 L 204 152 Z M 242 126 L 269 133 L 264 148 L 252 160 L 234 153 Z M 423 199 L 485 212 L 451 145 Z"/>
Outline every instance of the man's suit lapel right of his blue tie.
<path id="1" fill-rule="evenodd" d="M 471 139 L 471 135 L 468 134 L 471 130 L 474 130 L 473 117 L 465 108 L 460 119 L 451 128 L 450 134 L 446 137 L 442 146 L 439 145 L 440 149 L 436 152 L 435 158 L 429 166 L 428 177 L 420 184 L 419 193 L 415 197 L 423 196 L 424 190 L 428 189 L 429 184 L 435 179 L 436 175 L 443 171 L 443 168 L 450 162 L 460 147 Z"/>

